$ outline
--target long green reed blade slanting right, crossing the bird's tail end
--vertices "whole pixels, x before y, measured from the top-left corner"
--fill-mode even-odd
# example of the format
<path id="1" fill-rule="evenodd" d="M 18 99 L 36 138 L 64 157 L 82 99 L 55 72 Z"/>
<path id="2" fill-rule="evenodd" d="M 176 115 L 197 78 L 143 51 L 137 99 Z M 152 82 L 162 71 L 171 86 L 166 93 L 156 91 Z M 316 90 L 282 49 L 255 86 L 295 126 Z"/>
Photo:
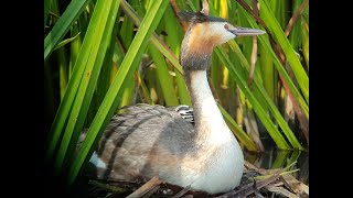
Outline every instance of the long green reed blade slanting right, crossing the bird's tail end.
<path id="1" fill-rule="evenodd" d="M 121 6 L 127 4 L 125 0 L 121 1 Z M 143 29 L 139 29 L 124 61 L 118 70 L 118 74 L 110 86 L 107 96 L 105 97 L 98 112 L 93 120 L 93 123 L 87 132 L 86 140 L 83 142 L 82 148 L 79 150 L 77 157 L 74 160 L 72 166 L 68 169 L 68 185 L 72 185 L 77 177 L 82 165 L 88 160 L 88 154 L 93 152 L 93 145 L 101 134 L 103 129 L 110 120 L 114 108 L 117 106 L 119 100 L 119 94 L 121 94 L 121 87 L 126 78 L 131 78 L 132 73 L 136 70 L 136 62 L 140 62 L 141 54 L 147 47 L 152 32 L 157 28 L 165 8 L 168 1 L 156 0 L 153 4 L 148 9 L 146 16 L 141 22 Z M 135 68 L 131 67 L 135 66 Z"/>

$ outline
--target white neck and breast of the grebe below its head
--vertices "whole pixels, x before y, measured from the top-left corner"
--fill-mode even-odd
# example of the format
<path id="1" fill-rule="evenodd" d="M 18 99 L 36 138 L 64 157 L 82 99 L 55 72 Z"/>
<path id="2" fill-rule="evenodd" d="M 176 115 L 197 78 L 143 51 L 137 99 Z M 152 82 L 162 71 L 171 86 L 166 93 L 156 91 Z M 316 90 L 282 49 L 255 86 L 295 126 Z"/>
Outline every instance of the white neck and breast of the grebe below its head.
<path id="1" fill-rule="evenodd" d="M 194 177 L 195 180 L 185 180 L 184 184 L 213 194 L 232 190 L 239 185 L 243 175 L 242 148 L 212 95 L 206 70 L 191 72 L 189 75 L 197 136 L 195 142 L 207 152 L 201 156 L 206 157 L 202 160 L 205 169 Z"/>

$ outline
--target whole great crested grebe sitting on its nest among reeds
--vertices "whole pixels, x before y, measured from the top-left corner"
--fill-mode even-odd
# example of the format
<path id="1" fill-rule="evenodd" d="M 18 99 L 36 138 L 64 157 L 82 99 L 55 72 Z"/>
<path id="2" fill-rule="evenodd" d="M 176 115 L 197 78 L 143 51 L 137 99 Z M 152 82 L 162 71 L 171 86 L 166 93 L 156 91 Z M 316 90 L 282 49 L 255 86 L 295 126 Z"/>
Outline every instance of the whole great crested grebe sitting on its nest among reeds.
<path id="1" fill-rule="evenodd" d="M 215 46 L 264 31 L 233 26 L 202 12 L 181 12 L 190 22 L 180 63 L 191 96 L 185 106 L 136 105 L 111 118 L 90 158 L 94 176 L 107 180 L 160 179 L 210 194 L 240 183 L 244 155 L 211 92 L 206 69 Z M 193 123 L 194 122 L 194 123 Z"/>

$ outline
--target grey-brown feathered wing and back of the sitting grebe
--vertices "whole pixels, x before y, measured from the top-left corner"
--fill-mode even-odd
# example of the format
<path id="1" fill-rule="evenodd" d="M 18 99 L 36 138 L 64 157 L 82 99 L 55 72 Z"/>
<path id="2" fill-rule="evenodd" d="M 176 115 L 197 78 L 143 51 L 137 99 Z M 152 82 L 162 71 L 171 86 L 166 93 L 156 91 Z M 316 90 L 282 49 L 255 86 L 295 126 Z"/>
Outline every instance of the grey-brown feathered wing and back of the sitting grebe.
<path id="1" fill-rule="evenodd" d="M 158 167 L 165 167 L 164 172 L 174 168 L 176 156 L 190 150 L 188 145 L 194 135 L 192 124 L 176 111 L 162 106 L 141 103 L 125 110 L 124 114 L 113 117 L 99 141 L 97 155 L 108 162 L 108 166 L 99 169 L 97 178 L 135 180 L 138 177 L 153 177 L 157 164 Z M 183 135 L 174 136 L 179 133 Z M 145 139 L 141 140 L 141 136 Z"/>

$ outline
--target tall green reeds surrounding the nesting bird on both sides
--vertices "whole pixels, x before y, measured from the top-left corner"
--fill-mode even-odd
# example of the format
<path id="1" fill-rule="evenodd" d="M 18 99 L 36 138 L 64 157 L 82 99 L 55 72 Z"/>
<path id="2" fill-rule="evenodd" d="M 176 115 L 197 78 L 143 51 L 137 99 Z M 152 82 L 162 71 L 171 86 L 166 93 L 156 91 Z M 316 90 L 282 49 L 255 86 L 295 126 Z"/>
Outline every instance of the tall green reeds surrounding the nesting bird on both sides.
<path id="1" fill-rule="evenodd" d="M 202 2 L 65 2 L 44 1 L 46 109 L 55 113 L 47 129 L 46 163 L 71 185 L 119 107 L 191 105 L 178 62 L 186 26 L 176 12 L 197 11 Z M 210 85 L 244 150 L 266 150 L 265 139 L 281 150 L 304 150 L 308 1 L 210 0 L 210 13 L 267 32 L 229 41 L 213 53 Z M 74 155 L 85 128 L 87 138 Z"/>

